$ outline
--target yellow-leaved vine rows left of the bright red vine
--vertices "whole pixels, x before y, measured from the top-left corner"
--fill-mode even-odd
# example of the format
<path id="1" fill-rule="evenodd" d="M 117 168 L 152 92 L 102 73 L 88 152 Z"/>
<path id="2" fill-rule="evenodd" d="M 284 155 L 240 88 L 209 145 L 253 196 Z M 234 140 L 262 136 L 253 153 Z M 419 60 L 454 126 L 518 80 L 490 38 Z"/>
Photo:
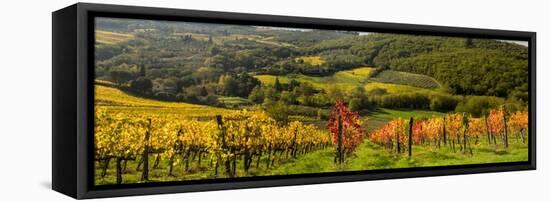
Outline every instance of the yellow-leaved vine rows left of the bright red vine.
<path id="1" fill-rule="evenodd" d="M 150 169 L 168 159 L 167 175 L 175 176 L 174 167 L 185 173 L 197 169 L 213 170 L 211 177 L 248 175 L 250 167 L 264 162 L 269 169 L 283 159 L 295 158 L 331 144 L 326 132 L 312 125 L 291 122 L 277 124 L 263 113 L 236 111 L 213 120 L 198 121 L 176 116 L 112 114 L 98 108 L 95 114 L 96 176 L 105 177 L 111 161 L 116 162 L 116 183 L 123 182 L 128 161 L 137 162 L 140 181 L 149 181 Z M 153 165 L 149 158 L 154 156 Z M 206 165 L 203 165 L 206 164 Z"/>

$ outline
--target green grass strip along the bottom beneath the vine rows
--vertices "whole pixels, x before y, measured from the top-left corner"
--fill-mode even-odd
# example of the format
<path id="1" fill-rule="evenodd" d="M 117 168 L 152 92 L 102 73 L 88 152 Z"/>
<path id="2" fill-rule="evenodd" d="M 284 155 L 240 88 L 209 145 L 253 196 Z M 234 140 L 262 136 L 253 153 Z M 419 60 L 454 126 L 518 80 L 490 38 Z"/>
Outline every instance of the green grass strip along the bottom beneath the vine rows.
<path id="1" fill-rule="evenodd" d="M 464 165 L 480 163 L 497 162 L 517 162 L 527 161 L 528 146 L 517 139 L 511 139 L 508 149 L 502 145 L 488 145 L 479 139 L 477 145 L 472 145 L 473 156 L 469 152 L 454 152 L 449 146 L 437 149 L 433 145 L 413 146 L 413 157 L 408 158 L 406 153 L 396 155 L 394 151 L 385 149 L 370 141 L 361 144 L 354 155 L 348 157 L 342 165 L 334 163 L 334 148 L 328 147 L 313 151 L 305 155 L 299 155 L 296 158 L 289 157 L 276 161 L 275 166 L 270 169 L 265 168 L 265 159 L 260 161 L 259 167 L 252 166 L 249 173 L 244 173 L 242 162 L 237 161 L 237 176 L 266 176 L 266 175 L 289 175 L 304 173 L 323 173 L 338 171 L 357 171 L 357 170 L 377 170 L 407 167 L 426 167 L 426 166 L 445 166 L 445 165 Z M 474 141 L 472 141 L 473 144 Z M 150 158 L 153 164 L 154 158 Z M 196 162 L 195 162 L 196 163 Z M 188 172 L 183 171 L 182 164 L 174 166 L 173 176 L 168 176 L 168 161 L 163 159 L 157 169 L 151 169 L 150 176 L 152 181 L 180 181 L 193 179 L 212 179 L 216 178 L 214 171 L 208 165 L 205 159 L 201 166 L 195 163 L 191 165 Z M 254 162 L 255 165 L 255 162 Z M 98 166 L 96 164 L 96 166 Z M 130 161 L 127 165 L 127 171 L 123 175 L 123 183 L 139 182 L 141 171 L 136 170 L 136 161 Z M 115 165 L 111 163 L 107 170 L 107 176 L 98 176 L 100 169 L 96 167 L 96 182 L 98 184 L 113 184 L 115 182 Z M 223 167 L 220 168 L 220 176 L 223 176 Z"/>

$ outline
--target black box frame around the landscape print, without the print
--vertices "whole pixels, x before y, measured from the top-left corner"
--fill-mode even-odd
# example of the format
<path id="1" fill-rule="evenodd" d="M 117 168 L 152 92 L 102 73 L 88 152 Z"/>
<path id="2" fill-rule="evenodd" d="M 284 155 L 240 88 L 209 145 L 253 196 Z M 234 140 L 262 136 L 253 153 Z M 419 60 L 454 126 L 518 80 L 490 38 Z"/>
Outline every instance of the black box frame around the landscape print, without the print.
<path id="1" fill-rule="evenodd" d="M 93 184 L 94 18 L 208 22 L 528 41 L 529 160 L 113 186 Z M 536 169 L 536 33 L 77 3 L 52 13 L 52 188 L 84 199 Z"/>

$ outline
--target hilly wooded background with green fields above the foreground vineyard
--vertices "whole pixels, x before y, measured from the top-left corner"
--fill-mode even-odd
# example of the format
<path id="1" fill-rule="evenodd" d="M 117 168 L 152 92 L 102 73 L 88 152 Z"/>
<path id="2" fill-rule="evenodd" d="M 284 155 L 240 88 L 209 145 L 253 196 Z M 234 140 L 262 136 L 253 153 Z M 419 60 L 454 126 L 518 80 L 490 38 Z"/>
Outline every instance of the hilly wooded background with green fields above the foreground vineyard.
<path id="1" fill-rule="evenodd" d="M 473 96 L 488 96 L 490 106 L 499 103 L 489 97 L 528 101 L 527 48 L 498 39 L 119 19 L 97 26 L 96 78 L 145 82 L 130 91 L 157 100 L 328 108 L 336 99 L 355 99 L 363 111 L 454 111 Z M 313 89 L 296 90 L 299 83 Z"/>

